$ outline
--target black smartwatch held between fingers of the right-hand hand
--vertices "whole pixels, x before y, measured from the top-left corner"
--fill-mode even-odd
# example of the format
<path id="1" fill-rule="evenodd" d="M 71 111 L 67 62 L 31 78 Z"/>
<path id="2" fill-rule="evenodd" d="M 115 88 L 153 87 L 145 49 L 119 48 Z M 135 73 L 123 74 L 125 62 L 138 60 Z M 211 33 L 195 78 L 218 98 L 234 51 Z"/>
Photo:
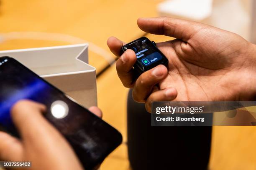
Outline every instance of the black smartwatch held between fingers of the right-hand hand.
<path id="1" fill-rule="evenodd" d="M 146 37 L 141 37 L 137 40 L 125 44 L 121 49 L 121 55 L 127 49 L 131 49 L 136 53 L 137 61 L 133 67 L 139 74 L 150 70 L 159 64 L 165 66 L 168 65 L 168 59 L 156 47 L 156 43 Z"/>

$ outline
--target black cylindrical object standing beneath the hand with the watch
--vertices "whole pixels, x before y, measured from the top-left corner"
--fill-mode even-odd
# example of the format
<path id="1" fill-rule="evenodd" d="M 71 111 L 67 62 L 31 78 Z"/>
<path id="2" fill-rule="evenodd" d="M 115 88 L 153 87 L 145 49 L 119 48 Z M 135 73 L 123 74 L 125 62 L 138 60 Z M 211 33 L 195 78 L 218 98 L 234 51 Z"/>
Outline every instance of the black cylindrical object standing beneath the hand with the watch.
<path id="1" fill-rule="evenodd" d="M 128 156 L 133 170 L 207 170 L 211 126 L 151 126 L 143 103 L 128 95 Z"/>

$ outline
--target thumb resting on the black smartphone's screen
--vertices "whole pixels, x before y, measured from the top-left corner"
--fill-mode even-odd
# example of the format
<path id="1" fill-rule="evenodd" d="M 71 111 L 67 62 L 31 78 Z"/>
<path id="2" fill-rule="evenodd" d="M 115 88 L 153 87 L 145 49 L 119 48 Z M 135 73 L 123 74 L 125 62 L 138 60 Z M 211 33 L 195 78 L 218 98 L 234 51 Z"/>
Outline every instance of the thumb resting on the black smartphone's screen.
<path id="1" fill-rule="evenodd" d="M 25 144 L 51 145 L 62 138 L 61 134 L 43 117 L 46 107 L 29 100 L 17 102 L 12 110 L 12 119 Z"/>

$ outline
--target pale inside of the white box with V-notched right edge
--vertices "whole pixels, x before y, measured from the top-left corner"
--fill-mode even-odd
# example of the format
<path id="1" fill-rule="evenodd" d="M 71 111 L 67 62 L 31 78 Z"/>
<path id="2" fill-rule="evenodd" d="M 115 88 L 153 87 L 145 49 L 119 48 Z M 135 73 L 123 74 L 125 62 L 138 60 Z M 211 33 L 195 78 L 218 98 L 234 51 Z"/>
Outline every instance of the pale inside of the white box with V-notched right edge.
<path id="1" fill-rule="evenodd" d="M 15 58 L 41 77 L 95 71 L 88 65 L 88 44 L 5 50 L 0 56 Z"/>

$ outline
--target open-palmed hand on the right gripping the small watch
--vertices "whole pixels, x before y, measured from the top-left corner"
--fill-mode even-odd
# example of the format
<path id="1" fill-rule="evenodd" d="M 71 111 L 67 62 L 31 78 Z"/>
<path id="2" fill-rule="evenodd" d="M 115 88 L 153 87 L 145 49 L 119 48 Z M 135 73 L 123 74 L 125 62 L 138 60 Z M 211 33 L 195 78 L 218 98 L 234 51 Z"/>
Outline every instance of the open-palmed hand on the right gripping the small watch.
<path id="1" fill-rule="evenodd" d="M 187 20 L 139 18 L 137 23 L 145 32 L 177 38 L 157 43 L 169 60 L 168 70 L 159 65 L 134 80 L 131 68 L 136 55 L 132 50 L 116 63 L 123 85 L 133 88 L 134 100 L 146 102 L 148 111 L 153 101 L 255 97 L 256 45 L 232 32 Z M 117 56 L 123 44 L 115 37 L 108 39 L 110 50 Z"/>

